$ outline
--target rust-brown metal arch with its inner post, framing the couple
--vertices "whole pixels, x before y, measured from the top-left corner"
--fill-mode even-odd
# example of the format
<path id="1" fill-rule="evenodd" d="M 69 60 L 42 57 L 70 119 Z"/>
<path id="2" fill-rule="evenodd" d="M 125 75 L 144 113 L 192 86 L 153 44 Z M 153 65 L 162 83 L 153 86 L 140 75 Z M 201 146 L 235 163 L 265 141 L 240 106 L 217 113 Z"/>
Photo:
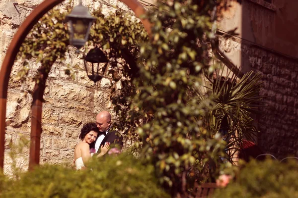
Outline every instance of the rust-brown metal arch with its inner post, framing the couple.
<path id="1" fill-rule="evenodd" d="M 7 101 L 7 89 L 8 81 L 11 73 L 13 63 L 16 55 L 22 45 L 24 39 L 37 23 L 37 21 L 51 10 L 54 6 L 63 2 L 64 0 L 44 0 L 40 3 L 24 20 L 16 34 L 14 35 L 4 57 L 1 70 L 0 70 L 0 171 L 3 171 L 4 166 L 4 143 L 5 143 L 5 116 L 6 116 L 6 101 Z M 149 36 L 151 34 L 151 24 L 149 20 L 143 19 L 143 14 L 146 13 L 144 6 L 137 0 L 120 0 L 125 3 L 131 10 L 134 11 L 137 17 L 139 17 L 147 30 Z M 35 101 L 33 99 L 32 104 L 32 118 L 31 118 L 31 134 L 30 134 L 30 154 L 29 154 L 29 169 L 32 169 L 35 165 L 39 164 L 39 151 L 40 151 L 40 135 L 41 129 L 41 118 L 42 118 L 42 96 L 43 90 L 37 88 Z M 41 96 L 41 98 L 40 98 Z"/>

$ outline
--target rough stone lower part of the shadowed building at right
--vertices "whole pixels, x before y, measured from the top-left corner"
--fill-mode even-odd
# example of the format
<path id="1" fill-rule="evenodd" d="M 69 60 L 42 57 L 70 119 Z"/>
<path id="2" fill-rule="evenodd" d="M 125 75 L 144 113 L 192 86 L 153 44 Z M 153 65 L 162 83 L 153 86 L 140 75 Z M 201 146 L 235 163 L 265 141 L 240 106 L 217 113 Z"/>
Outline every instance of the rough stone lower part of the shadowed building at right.
<path id="1" fill-rule="evenodd" d="M 260 110 L 268 116 L 256 117 L 258 145 L 279 158 L 298 156 L 298 59 L 236 37 L 223 39 L 220 47 L 229 57 L 240 53 L 245 71 L 263 76 L 265 107 Z"/>

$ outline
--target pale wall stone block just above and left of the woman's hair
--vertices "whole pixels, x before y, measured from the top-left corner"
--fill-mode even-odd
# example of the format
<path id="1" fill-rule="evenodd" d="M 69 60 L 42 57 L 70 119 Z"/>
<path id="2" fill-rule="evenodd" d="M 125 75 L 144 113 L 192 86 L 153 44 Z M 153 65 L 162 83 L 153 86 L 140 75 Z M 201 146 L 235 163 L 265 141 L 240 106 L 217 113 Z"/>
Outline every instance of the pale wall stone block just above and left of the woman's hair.
<path id="1" fill-rule="evenodd" d="M 80 128 L 83 123 L 83 117 L 83 113 L 62 109 L 60 113 L 60 124 Z"/>

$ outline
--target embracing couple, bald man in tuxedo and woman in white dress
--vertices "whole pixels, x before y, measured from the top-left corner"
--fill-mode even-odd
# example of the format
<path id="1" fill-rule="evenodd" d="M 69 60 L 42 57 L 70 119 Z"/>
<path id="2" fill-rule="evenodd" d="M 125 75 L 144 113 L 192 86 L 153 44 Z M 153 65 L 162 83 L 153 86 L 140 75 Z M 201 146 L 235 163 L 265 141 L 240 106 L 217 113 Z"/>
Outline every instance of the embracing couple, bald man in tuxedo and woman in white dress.
<path id="1" fill-rule="evenodd" d="M 86 162 L 94 153 L 97 154 L 97 157 L 105 155 L 110 148 L 110 144 L 117 144 L 121 150 L 123 138 L 118 132 L 109 131 L 111 126 L 112 116 L 108 111 L 98 113 L 96 123 L 89 122 L 83 125 L 79 134 L 81 142 L 74 148 L 76 170 L 84 168 Z"/>

